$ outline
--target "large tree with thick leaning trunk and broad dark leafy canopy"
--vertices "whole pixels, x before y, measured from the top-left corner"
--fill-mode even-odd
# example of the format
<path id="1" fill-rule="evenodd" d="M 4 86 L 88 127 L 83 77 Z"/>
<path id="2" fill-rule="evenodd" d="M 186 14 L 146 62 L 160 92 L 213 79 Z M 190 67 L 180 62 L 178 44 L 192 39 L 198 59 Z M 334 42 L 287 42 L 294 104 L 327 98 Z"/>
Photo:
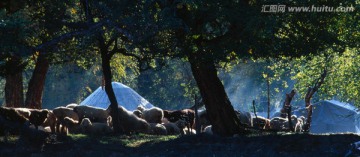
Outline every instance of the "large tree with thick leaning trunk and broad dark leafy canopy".
<path id="1" fill-rule="evenodd" d="M 213 131 L 219 135 L 230 136 L 244 128 L 217 77 L 218 63 L 246 56 L 299 57 L 319 54 L 328 48 L 341 51 L 350 43 L 339 38 L 338 18 L 345 17 L 341 14 L 262 14 L 263 3 L 253 1 L 167 1 L 159 4 L 154 5 L 161 9 L 158 21 L 168 29 L 160 30 L 157 35 L 174 36 L 175 44 L 168 47 L 171 49 L 168 52 L 173 53 L 157 54 L 188 59 L 206 109 L 212 115 Z M 286 3 L 288 6 L 295 4 Z M 152 39 L 159 43 L 154 39 L 160 37 Z"/>

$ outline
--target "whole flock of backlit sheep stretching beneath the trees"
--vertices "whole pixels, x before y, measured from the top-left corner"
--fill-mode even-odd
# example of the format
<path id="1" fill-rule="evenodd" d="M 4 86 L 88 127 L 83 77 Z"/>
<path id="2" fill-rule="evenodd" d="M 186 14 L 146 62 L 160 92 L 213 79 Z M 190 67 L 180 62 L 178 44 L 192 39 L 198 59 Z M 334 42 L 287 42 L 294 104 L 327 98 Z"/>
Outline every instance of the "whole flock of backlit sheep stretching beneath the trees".
<path id="1" fill-rule="evenodd" d="M 146 133 L 153 135 L 196 134 L 195 112 L 191 109 L 162 110 L 158 107 L 145 109 L 138 106 L 130 112 L 119 106 L 120 128 L 127 134 Z M 285 130 L 289 129 L 288 120 L 281 117 L 266 119 L 252 117 L 249 112 L 237 112 L 240 122 L 253 128 Z M 198 113 L 201 132 L 212 134 L 211 124 L 206 111 Z M 69 104 L 48 109 L 6 108 L 0 107 L 0 130 L 6 130 L 9 125 L 29 124 L 38 130 L 60 134 L 96 134 L 105 135 L 113 131 L 110 109 Z M 302 131 L 304 117 L 291 117 L 296 132 Z"/>

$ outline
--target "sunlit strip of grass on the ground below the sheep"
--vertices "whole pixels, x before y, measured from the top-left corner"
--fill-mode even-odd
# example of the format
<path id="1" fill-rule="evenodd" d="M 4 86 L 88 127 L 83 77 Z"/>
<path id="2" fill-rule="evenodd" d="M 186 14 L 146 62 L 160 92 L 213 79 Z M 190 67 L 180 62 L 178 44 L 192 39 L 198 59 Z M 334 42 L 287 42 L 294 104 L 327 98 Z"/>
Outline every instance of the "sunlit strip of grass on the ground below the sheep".
<path id="1" fill-rule="evenodd" d="M 90 142 L 97 141 L 100 144 L 121 144 L 126 147 L 139 147 L 145 143 L 156 144 L 163 141 L 169 141 L 178 138 L 175 135 L 168 136 L 157 136 L 157 135 L 147 135 L 147 134 L 137 134 L 137 135 L 120 135 L 120 136 L 90 136 L 84 134 L 69 134 L 69 137 L 73 141 L 78 142 Z"/>

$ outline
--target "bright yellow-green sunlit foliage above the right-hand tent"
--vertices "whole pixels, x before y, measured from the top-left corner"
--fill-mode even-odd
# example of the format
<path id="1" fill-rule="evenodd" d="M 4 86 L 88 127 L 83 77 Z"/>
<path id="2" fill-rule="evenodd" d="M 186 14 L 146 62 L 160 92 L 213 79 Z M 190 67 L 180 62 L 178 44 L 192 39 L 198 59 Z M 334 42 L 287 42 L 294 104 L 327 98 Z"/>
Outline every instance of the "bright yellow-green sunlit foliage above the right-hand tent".
<path id="1" fill-rule="evenodd" d="M 297 101 L 302 101 L 307 88 L 314 85 L 323 70 L 328 71 L 325 83 L 313 98 L 313 102 L 325 99 L 338 99 L 354 105 L 359 104 L 359 50 L 346 49 L 343 53 L 327 52 L 296 59 L 282 58 L 272 61 L 268 66 L 273 73 L 272 80 L 285 82 L 295 81 L 294 88 L 298 91 Z M 281 77 L 277 77 L 281 76 Z M 291 78 L 287 80 L 286 78 Z M 279 86 L 283 87 L 284 86 Z"/>

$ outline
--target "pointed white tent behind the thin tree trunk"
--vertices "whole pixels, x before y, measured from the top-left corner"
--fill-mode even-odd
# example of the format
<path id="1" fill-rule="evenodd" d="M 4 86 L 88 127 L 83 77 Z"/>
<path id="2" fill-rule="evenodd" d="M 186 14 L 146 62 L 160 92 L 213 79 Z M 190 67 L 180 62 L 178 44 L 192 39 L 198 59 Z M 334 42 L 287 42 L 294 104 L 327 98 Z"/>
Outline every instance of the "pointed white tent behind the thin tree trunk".
<path id="1" fill-rule="evenodd" d="M 145 108 L 153 107 L 152 104 L 150 104 L 146 99 L 144 99 L 130 87 L 119 82 L 112 82 L 111 84 L 118 104 L 125 107 L 127 110 L 133 111 L 139 105 L 142 105 Z M 99 87 L 84 101 L 82 101 L 80 105 L 88 105 L 106 109 L 110 105 L 110 101 L 105 92 L 105 88 Z"/>

